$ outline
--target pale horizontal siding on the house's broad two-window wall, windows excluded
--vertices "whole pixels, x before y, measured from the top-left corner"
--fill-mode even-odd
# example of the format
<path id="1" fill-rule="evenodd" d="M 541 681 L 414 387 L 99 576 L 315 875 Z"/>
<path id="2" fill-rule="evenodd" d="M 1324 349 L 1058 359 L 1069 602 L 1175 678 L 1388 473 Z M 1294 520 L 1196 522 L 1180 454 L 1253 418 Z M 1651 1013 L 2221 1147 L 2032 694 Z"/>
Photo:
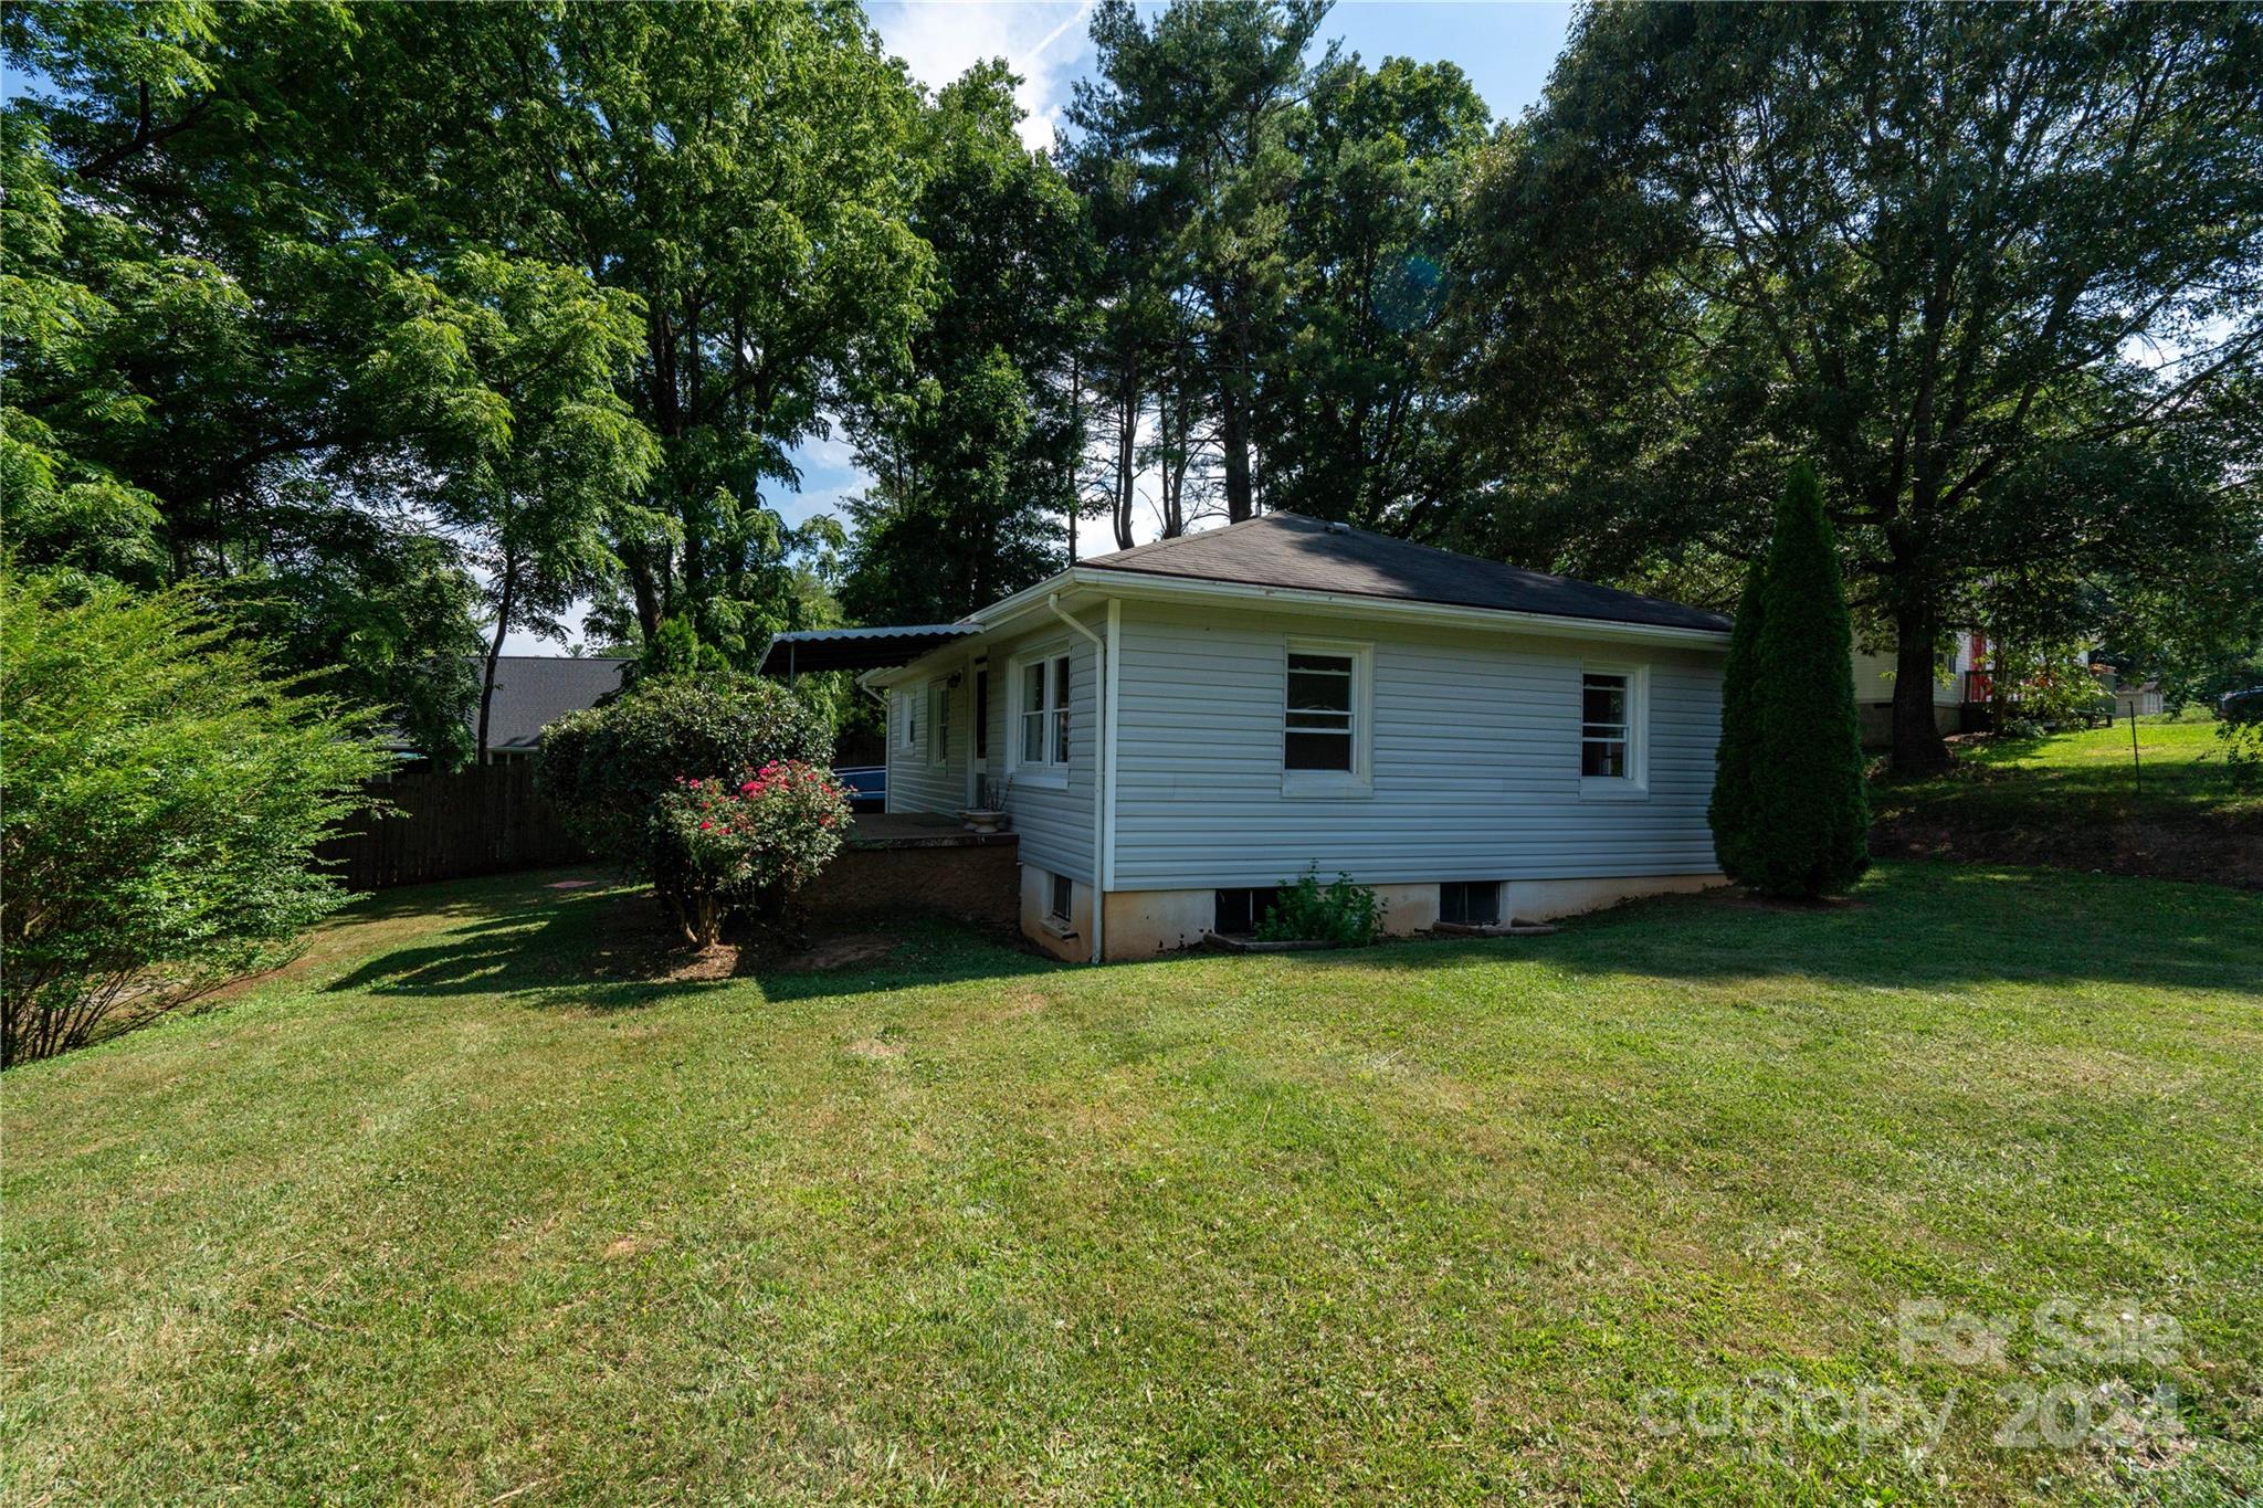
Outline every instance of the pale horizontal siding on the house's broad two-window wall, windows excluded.
<path id="1" fill-rule="evenodd" d="M 1125 604 L 1111 889 L 1713 873 L 1722 653 L 1333 622 L 1371 640 L 1360 800 L 1283 789 L 1288 642 L 1313 619 Z M 1641 800 L 1582 800 L 1582 676 L 1641 667 Z M 1089 821 L 1086 809 L 1086 821 Z"/>

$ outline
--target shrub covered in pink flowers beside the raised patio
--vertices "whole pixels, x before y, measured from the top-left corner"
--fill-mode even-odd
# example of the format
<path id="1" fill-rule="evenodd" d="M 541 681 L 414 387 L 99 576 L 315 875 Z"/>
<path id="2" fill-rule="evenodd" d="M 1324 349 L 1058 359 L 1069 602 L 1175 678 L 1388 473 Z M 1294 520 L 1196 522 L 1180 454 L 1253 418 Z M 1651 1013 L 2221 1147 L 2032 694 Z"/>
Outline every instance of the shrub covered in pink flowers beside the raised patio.
<path id="1" fill-rule="evenodd" d="M 833 861 L 849 821 L 849 796 L 799 760 L 735 780 L 679 775 L 652 812 L 652 879 L 706 945 L 731 913 L 778 913 Z"/>

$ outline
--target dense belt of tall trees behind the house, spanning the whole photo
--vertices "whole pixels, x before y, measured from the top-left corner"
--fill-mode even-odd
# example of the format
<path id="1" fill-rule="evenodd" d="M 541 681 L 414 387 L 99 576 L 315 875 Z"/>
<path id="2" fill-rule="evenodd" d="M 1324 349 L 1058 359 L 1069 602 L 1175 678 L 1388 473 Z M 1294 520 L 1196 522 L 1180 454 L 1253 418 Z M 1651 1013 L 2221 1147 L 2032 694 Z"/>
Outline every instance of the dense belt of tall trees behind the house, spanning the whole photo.
<path id="1" fill-rule="evenodd" d="M 2254 7 L 1602 5 L 1505 127 L 1326 23 L 1102 0 L 1048 156 L 833 0 L 9 7 L 0 525 L 213 583 L 439 764 L 514 631 L 742 671 L 1089 518 L 1724 606 L 1795 454 L 1896 764 L 1953 631 L 2254 656 Z M 837 439 L 853 536 L 788 525 Z"/>

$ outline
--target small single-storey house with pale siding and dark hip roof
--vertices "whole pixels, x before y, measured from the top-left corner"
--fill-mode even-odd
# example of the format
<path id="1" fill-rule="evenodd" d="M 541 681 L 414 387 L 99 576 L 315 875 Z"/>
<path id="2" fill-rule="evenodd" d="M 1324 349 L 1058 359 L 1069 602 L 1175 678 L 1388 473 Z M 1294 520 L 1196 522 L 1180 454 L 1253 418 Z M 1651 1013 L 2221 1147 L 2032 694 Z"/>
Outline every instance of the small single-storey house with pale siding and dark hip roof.
<path id="1" fill-rule="evenodd" d="M 1270 513 L 896 635 L 887 809 L 998 803 L 1064 959 L 1245 931 L 1308 866 L 1396 934 L 1720 882 L 1718 613 Z"/>

